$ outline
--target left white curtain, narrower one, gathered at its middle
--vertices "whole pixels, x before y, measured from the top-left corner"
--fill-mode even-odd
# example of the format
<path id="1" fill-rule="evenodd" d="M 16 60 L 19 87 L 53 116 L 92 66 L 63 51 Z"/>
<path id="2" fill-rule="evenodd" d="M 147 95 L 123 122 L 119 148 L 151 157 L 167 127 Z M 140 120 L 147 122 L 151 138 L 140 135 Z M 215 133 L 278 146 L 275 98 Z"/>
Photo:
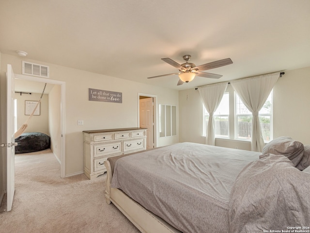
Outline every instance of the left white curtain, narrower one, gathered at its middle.
<path id="1" fill-rule="evenodd" d="M 217 83 L 199 87 L 198 91 L 202 98 L 205 109 L 209 113 L 209 121 L 206 126 L 205 144 L 215 146 L 215 126 L 213 114 L 221 102 L 228 83 Z"/>

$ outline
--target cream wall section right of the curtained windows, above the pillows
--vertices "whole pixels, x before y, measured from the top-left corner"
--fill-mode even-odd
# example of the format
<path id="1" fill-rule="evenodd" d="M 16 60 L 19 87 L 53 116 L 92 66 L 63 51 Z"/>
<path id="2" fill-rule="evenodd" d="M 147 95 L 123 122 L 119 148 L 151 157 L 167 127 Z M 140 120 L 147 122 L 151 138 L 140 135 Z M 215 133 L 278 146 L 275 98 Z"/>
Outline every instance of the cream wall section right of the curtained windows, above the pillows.
<path id="1" fill-rule="evenodd" d="M 287 70 L 274 87 L 274 137 L 310 145 L 310 67 Z"/>

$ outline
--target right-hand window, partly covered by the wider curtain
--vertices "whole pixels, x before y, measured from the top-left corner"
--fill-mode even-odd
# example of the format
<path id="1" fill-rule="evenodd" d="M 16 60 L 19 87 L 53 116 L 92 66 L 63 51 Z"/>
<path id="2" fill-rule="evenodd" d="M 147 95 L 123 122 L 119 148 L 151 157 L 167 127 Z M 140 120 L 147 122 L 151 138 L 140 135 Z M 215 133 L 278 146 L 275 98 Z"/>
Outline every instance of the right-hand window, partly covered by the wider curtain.
<path id="1" fill-rule="evenodd" d="M 272 92 L 259 112 L 263 140 L 272 138 Z M 235 139 L 251 140 L 252 113 L 247 109 L 239 96 L 235 94 Z"/>

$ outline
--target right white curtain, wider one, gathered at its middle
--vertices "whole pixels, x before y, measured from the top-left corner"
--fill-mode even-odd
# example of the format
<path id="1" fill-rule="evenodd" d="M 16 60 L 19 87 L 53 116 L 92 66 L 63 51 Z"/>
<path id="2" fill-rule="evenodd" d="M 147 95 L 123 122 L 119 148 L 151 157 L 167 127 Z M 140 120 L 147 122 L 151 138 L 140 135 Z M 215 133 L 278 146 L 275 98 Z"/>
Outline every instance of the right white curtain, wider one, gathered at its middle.
<path id="1" fill-rule="evenodd" d="M 231 81 L 233 89 L 252 113 L 251 150 L 263 150 L 264 141 L 258 113 L 276 84 L 280 73 Z"/>

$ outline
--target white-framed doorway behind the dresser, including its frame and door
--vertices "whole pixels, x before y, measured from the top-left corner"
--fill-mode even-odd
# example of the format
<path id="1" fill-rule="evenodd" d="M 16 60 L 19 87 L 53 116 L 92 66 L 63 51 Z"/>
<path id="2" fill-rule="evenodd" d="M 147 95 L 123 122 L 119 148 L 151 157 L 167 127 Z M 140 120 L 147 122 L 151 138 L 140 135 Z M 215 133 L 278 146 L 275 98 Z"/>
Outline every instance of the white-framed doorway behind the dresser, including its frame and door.
<path id="1" fill-rule="evenodd" d="M 138 125 L 146 128 L 146 149 L 156 147 L 156 96 L 138 95 Z"/>

